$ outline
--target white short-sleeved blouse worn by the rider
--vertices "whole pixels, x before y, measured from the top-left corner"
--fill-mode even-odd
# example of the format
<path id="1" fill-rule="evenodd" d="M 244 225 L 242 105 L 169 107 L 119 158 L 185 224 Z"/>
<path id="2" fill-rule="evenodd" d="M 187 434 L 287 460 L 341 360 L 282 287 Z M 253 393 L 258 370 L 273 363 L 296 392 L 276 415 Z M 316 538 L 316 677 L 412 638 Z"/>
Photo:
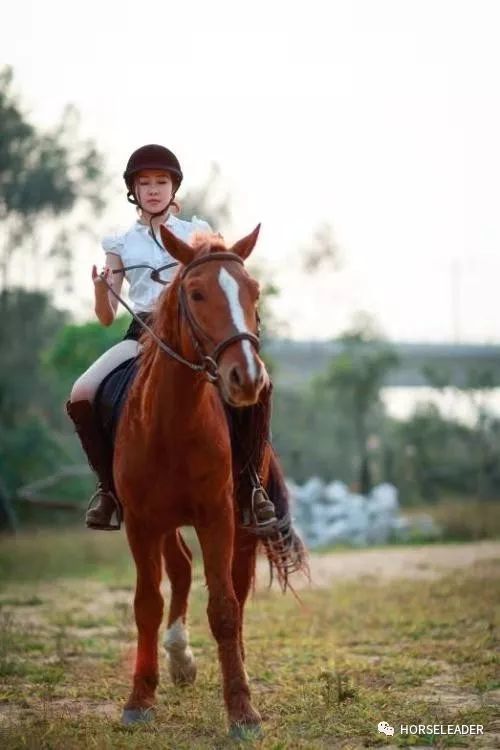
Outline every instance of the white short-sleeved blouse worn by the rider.
<path id="1" fill-rule="evenodd" d="M 210 225 L 203 219 L 193 216 L 191 221 L 183 221 L 176 216 L 169 216 L 165 225 L 177 237 L 185 242 L 189 241 L 193 232 L 211 232 Z M 163 245 L 160 230 L 155 230 L 156 238 Z M 151 234 L 151 229 L 146 224 L 136 221 L 125 234 L 108 235 L 102 240 L 103 250 L 107 253 L 119 255 L 125 267 L 139 264 L 147 264 L 151 268 L 160 268 L 167 263 L 175 263 L 167 249 L 160 248 Z M 162 281 L 171 281 L 177 267 L 161 271 Z M 164 290 L 164 285 L 153 281 L 150 268 L 134 268 L 125 271 L 125 278 L 130 284 L 128 297 L 130 306 L 136 313 L 151 312 L 159 295 Z"/>

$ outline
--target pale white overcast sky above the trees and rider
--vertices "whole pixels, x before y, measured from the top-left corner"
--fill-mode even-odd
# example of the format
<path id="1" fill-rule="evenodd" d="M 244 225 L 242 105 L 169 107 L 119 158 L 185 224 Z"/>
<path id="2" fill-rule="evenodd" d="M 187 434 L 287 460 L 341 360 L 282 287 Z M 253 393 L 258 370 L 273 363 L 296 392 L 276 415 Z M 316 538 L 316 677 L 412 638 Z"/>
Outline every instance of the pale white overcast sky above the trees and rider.
<path id="1" fill-rule="evenodd" d="M 120 174 L 159 142 L 186 189 L 219 164 L 235 240 L 293 338 L 370 312 L 393 340 L 500 343 L 500 3 L 9 3 L 0 49 L 33 122 L 81 114 L 113 178 L 100 234 L 134 220 Z M 182 202 L 182 190 L 179 193 Z M 340 270 L 304 270 L 328 223 Z M 75 248 L 91 316 L 98 244 Z"/>

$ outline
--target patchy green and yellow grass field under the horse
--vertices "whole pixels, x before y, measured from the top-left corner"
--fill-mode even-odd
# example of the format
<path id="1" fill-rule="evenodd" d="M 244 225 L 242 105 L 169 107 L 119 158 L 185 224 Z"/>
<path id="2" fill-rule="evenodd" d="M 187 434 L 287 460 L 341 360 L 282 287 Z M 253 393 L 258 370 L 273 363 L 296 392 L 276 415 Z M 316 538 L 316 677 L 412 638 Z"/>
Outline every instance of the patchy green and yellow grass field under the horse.
<path id="1" fill-rule="evenodd" d="M 470 545 L 456 546 L 457 565 L 439 569 L 425 548 L 419 576 L 404 548 L 390 577 L 373 551 L 333 554 L 333 579 L 301 588 L 301 604 L 260 583 L 246 615 L 247 669 L 265 731 L 255 746 L 500 746 L 500 544 L 490 545 L 475 562 Z M 378 559 L 389 553 L 379 549 Z M 174 688 L 163 662 L 155 723 L 133 729 L 119 724 L 135 647 L 123 535 L 2 540 L 0 580 L 1 748 L 235 746 L 199 566 L 190 610 L 197 683 Z M 379 734 L 381 720 L 394 737 Z M 485 734 L 404 737 L 400 724 L 482 724 Z"/>

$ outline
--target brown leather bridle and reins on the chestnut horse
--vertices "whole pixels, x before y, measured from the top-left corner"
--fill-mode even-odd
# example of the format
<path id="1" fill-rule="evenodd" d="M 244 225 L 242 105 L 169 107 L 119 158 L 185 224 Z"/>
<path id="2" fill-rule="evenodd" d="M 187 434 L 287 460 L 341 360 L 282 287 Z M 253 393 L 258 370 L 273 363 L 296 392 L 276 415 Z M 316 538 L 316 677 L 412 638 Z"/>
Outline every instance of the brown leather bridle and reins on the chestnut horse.
<path id="1" fill-rule="evenodd" d="M 195 372 L 204 372 L 207 376 L 207 379 L 211 383 L 215 383 L 218 380 L 219 359 L 221 355 L 223 354 L 223 352 L 225 352 L 228 347 L 232 346 L 232 344 L 235 344 L 238 341 L 249 341 L 256 351 L 259 351 L 259 348 L 260 348 L 260 339 L 258 336 L 256 336 L 254 333 L 250 333 L 250 331 L 241 331 L 241 332 L 235 333 L 232 336 L 228 336 L 228 338 L 216 344 L 216 346 L 214 347 L 214 349 L 212 350 L 210 354 L 207 354 L 206 351 L 204 350 L 203 344 L 200 341 L 200 338 L 203 337 L 209 341 L 210 336 L 203 330 L 201 325 L 196 320 L 196 317 L 193 315 L 193 312 L 191 308 L 189 307 L 189 304 L 186 298 L 186 291 L 183 286 L 183 282 L 188 276 L 188 274 L 193 270 L 193 268 L 197 268 L 198 266 L 204 265 L 205 263 L 209 263 L 210 261 L 214 261 L 214 260 L 231 261 L 233 263 L 239 263 L 240 265 L 243 265 L 243 260 L 240 258 L 239 255 L 236 255 L 236 253 L 225 252 L 225 251 L 208 253 L 207 255 L 202 255 L 200 258 L 195 258 L 193 261 L 191 261 L 191 263 L 188 263 L 188 265 L 181 271 L 181 275 L 180 275 L 179 320 L 181 318 L 184 318 L 184 320 L 188 324 L 188 330 L 189 330 L 189 334 L 191 337 L 191 341 L 200 358 L 199 362 L 191 362 L 189 359 L 186 359 L 181 354 L 179 354 L 174 349 L 172 349 L 165 341 L 163 341 L 163 339 L 157 336 L 156 333 L 153 331 L 153 329 L 144 320 L 142 320 L 132 310 L 131 307 L 129 307 L 129 305 L 125 302 L 125 300 L 123 300 L 122 297 L 120 297 L 120 295 L 114 291 L 113 287 L 106 281 L 106 279 L 104 279 L 104 277 L 101 276 L 101 278 L 103 279 L 104 283 L 106 284 L 106 286 L 108 287 L 112 295 L 126 308 L 126 310 L 128 310 L 128 312 L 134 317 L 134 319 L 139 323 L 139 325 L 149 333 L 149 335 L 154 339 L 154 341 L 157 343 L 160 349 L 163 352 L 165 352 L 165 354 L 168 354 L 169 357 L 172 357 L 177 362 L 180 362 L 181 364 L 185 365 L 186 367 L 189 367 L 191 370 Z M 137 267 L 137 266 L 134 266 L 134 267 Z M 115 269 L 113 273 L 122 273 L 125 270 L 126 269 L 121 269 L 121 268 Z M 151 277 L 155 278 L 153 273 L 151 274 Z"/>

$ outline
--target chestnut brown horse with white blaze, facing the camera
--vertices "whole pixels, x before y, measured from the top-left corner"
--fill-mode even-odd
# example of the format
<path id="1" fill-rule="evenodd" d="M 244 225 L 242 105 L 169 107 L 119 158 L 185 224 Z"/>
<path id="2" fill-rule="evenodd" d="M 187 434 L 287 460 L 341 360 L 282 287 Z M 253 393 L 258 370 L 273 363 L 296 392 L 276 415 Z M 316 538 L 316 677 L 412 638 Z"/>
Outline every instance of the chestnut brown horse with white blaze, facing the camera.
<path id="1" fill-rule="evenodd" d="M 227 250 L 212 235 L 187 245 L 161 227 L 183 267 L 161 296 L 116 437 L 114 476 L 137 568 L 138 647 L 126 724 L 150 718 L 158 684 L 162 559 L 171 583 L 164 641 L 175 683 L 196 665 L 186 629 L 191 552 L 179 527 L 198 535 L 218 644 L 231 733 L 259 732 L 243 660 L 243 608 L 255 572 L 257 540 L 238 523 L 224 403 L 256 404 L 269 384 L 258 356 L 257 282 L 244 268 L 259 227 Z M 158 339 L 168 342 L 162 351 Z M 222 397 L 222 398 L 221 398 Z M 268 451 L 261 463 L 265 479 Z"/>

